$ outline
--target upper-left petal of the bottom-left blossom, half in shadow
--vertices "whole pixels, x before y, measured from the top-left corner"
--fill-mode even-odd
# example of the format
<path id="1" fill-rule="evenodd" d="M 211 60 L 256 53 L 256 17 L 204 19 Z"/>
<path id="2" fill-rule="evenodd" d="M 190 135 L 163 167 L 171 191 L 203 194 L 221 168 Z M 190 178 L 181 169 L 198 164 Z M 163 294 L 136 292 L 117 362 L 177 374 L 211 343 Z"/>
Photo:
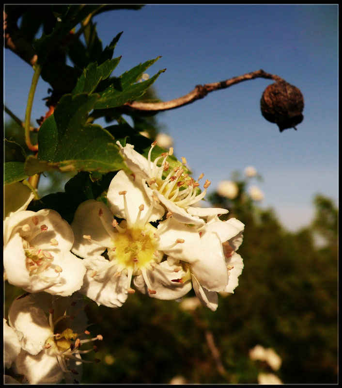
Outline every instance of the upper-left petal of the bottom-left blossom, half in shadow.
<path id="1" fill-rule="evenodd" d="M 50 300 L 50 295 L 39 294 L 39 305 L 35 295 L 38 294 L 16 298 L 8 313 L 8 322 L 18 335 L 21 347 L 31 355 L 38 354 L 43 349 L 46 339 L 53 334 L 46 312 L 40 307 L 44 306 L 45 301 Z"/>

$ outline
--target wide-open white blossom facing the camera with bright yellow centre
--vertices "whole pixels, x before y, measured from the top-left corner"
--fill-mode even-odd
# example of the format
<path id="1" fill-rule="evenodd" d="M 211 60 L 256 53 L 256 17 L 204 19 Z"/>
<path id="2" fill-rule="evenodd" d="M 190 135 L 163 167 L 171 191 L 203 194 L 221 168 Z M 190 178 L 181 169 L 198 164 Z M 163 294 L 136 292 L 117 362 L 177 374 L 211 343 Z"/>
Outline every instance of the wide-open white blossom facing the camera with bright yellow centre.
<path id="1" fill-rule="evenodd" d="M 148 195 L 136 182 L 137 177 L 119 171 L 109 185 L 109 208 L 102 202 L 88 200 L 76 210 L 72 228 L 72 251 L 87 267 L 80 292 L 97 304 L 120 307 L 135 287 L 158 299 L 178 299 L 191 289 L 191 282 L 172 282 L 185 275 L 180 263 L 170 264 L 164 256 L 194 262 L 200 252 L 200 234 L 196 226 L 166 219 L 151 224 L 164 215 L 155 195 Z M 147 188 L 148 189 L 148 188 Z M 113 215 L 123 219 L 118 223 Z M 100 256 L 105 252 L 105 257 Z"/>

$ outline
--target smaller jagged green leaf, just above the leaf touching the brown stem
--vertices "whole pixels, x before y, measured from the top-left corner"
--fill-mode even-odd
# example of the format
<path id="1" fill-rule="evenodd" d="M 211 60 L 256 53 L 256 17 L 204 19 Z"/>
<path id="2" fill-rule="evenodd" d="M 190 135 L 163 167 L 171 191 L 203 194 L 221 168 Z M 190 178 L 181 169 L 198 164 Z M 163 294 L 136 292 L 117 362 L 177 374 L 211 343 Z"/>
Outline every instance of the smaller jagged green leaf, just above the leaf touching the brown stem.
<path id="1" fill-rule="evenodd" d="M 96 62 L 90 63 L 79 77 L 72 95 L 75 96 L 82 92 L 92 93 L 101 80 L 105 80 L 110 76 L 111 72 L 119 64 L 120 58 L 108 59 L 99 66 Z"/>

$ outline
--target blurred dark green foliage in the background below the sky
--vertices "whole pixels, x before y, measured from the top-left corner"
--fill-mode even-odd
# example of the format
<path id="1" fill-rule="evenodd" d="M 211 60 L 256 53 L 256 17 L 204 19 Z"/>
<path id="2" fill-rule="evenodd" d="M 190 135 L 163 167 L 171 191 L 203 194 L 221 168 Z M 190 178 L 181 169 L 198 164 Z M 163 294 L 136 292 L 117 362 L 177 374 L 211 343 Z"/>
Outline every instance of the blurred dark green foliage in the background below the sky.
<path id="1" fill-rule="evenodd" d="M 336 206 L 317 195 L 312 225 L 289 232 L 272 210 L 249 198 L 247 181 L 236 183 L 235 199 L 211 197 L 246 225 L 238 250 L 245 267 L 234 294 L 220 294 L 215 312 L 185 310 L 139 292 L 115 309 L 87 300 L 89 330 L 104 340 L 97 343 L 101 362 L 85 365 L 83 384 L 168 384 L 177 375 L 187 383 L 253 384 L 260 372 L 273 372 L 285 384 L 337 383 Z M 319 246 L 316 233 L 324 238 Z M 8 308 L 21 291 L 7 283 L 5 291 Z M 256 344 L 279 354 L 279 371 L 249 358 Z"/>

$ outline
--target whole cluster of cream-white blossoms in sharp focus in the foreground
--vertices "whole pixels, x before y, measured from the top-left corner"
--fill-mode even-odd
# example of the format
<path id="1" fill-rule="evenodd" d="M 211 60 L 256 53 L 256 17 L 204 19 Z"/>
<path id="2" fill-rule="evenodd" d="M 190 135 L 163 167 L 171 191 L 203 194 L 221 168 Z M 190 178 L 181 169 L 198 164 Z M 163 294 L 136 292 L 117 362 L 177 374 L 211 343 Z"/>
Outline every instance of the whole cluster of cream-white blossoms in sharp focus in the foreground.
<path id="1" fill-rule="evenodd" d="M 210 181 L 201 191 L 203 174 L 191 178 L 185 158 L 172 167 L 172 148 L 152 161 L 155 144 L 146 159 L 134 146 L 118 143 L 130 173 L 117 172 L 107 203 L 81 203 L 71 225 L 55 210 L 26 210 L 32 199 L 26 189 L 6 212 L 4 276 L 26 293 L 13 302 L 9 326 L 4 322 L 4 359 L 24 383 L 72 382 L 80 374 L 80 355 L 88 352 L 80 345 L 102 339 L 81 338 L 89 334 L 81 294 L 121 307 L 135 290 L 179 301 L 193 288 L 215 311 L 217 293 L 237 286 L 244 225 L 235 218 L 221 221 L 228 210 L 195 207 Z M 34 368 L 38 363 L 42 374 Z"/>

